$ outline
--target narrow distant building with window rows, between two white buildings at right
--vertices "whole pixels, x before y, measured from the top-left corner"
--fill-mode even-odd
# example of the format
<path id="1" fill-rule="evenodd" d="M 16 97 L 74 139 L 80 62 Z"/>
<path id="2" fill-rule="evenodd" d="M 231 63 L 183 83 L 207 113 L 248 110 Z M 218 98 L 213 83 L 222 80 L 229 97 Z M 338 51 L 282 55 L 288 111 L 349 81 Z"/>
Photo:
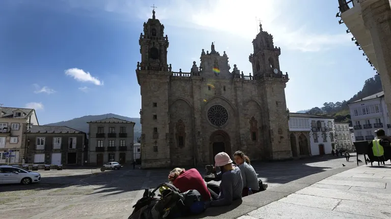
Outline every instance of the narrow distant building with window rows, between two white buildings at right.
<path id="1" fill-rule="evenodd" d="M 334 122 L 335 145 L 333 149 L 352 150 L 353 142 L 350 134 L 349 122 Z"/>

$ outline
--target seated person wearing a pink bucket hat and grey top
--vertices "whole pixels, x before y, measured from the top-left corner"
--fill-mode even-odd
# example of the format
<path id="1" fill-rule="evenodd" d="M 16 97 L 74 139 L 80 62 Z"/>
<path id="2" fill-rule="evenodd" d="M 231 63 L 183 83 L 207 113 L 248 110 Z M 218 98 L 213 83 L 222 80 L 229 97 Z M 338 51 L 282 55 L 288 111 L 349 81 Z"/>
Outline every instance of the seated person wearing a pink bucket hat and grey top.
<path id="1" fill-rule="evenodd" d="M 232 164 L 230 156 L 225 152 L 216 154 L 214 160 L 215 167 L 219 167 L 221 172 L 208 179 L 221 182 L 220 185 L 207 184 L 212 200 L 206 202 L 205 207 L 230 205 L 234 200 L 242 198 L 243 180 L 240 169 Z"/>

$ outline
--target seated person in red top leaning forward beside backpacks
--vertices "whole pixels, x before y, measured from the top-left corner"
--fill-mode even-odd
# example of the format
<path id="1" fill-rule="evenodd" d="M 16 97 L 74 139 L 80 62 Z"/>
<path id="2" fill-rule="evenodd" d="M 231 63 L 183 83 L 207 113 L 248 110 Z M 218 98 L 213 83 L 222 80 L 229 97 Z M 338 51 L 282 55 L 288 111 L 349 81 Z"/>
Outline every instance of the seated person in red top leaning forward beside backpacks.
<path id="1" fill-rule="evenodd" d="M 197 190 L 204 201 L 210 201 L 211 199 L 204 179 L 198 170 L 194 168 L 190 170 L 175 168 L 169 174 L 169 181 L 182 193 L 189 190 Z"/>

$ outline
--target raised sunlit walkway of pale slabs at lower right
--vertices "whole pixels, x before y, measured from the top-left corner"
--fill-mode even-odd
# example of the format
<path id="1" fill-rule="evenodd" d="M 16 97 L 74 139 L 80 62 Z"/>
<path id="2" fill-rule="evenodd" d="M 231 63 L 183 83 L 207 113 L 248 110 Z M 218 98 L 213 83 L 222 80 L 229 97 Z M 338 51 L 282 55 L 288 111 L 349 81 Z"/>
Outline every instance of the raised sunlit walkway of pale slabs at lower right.
<path id="1" fill-rule="evenodd" d="M 308 177 L 278 186 L 275 191 L 267 190 L 262 193 L 289 194 L 289 190 L 297 191 L 300 186 L 303 187 L 253 211 L 250 211 L 250 207 L 254 204 L 250 203 L 262 202 L 263 197 L 254 197 L 258 200 L 248 200 L 245 197 L 242 204 L 247 205 L 250 212 L 236 218 L 391 218 L 391 165 L 389 161 L 386 164 L 380 167 L 377 163 L 373 167 L 364 164 L 334 173 L 335 175 L 309 186 L 303 186 L 306 184 L 304 178 Z M 321 174 L 313 176 L 317 177 L 316 175 Z M 258 194 L 253 196 L 256 195 Z M 264 198 L 268 199 L 267 196 Z"/>

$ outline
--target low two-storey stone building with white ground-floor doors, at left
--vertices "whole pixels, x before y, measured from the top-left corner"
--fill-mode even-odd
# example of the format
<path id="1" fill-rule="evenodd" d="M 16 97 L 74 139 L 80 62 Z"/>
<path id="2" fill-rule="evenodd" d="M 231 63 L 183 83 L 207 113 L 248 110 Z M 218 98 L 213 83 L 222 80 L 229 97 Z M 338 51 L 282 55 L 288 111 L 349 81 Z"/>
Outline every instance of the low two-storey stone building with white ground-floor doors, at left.
<path id="1" fill-rule="evenodd" d="M 83 165 L 87 133 L 66 126 L 32 126 L 26 133 L 26 163 Z"/>

